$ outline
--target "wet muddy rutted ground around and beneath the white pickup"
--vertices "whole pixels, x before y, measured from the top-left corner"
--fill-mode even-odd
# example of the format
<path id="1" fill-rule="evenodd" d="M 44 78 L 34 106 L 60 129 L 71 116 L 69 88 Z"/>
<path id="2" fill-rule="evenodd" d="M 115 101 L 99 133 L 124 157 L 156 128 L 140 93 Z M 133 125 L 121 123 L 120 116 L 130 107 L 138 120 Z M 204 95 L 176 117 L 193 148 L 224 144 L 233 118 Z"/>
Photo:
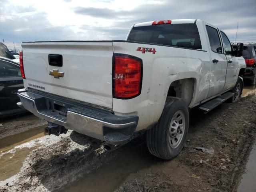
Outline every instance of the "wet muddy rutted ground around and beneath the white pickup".
<path id="1" fill-rule="evenodd" d="M 6 130 L 0 127 L 1 136 L 6 133 L 0 139 L 0 191 L 236 191 L 256 138 L 255 114 L 256 91 L 208 114 L 191 110 L 186 144 L 171 161 L 152 156 L 143 133 L 112 151 L 99 140 L 72 131 L 5 144 L 3 139 L 12 140 L 11 134 L 20 128 L 7 120 Z M 38 130 L 40 121 L 34 126 Z M 20 158 L 12 162 L 16 156 Z M 23 161 L 22 167 L 17 161 Z M 16 170 L 9 172 L 10 167 Z"/>

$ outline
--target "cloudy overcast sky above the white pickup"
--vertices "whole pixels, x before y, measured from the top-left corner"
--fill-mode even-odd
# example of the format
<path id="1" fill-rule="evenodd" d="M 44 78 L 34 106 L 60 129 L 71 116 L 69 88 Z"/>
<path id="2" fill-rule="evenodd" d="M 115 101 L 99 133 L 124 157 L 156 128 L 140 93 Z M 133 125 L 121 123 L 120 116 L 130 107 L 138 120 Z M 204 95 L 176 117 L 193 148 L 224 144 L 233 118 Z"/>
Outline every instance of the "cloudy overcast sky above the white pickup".
<path id="1" fill-rule="evenodd" d="M 0 42 L 124 40 L 132 24 L 201 19 L 256 41 L 256 0 L 0 0 Z"/>

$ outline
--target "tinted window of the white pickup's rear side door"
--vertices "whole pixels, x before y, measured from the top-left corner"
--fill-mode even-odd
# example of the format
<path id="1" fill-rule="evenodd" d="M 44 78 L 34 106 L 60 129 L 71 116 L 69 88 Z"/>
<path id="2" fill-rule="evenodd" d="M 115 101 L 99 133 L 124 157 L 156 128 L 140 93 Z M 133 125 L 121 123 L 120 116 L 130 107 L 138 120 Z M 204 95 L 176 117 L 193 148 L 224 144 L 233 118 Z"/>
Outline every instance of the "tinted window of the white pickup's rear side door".
<path id="1" fill-rule="evenodd" d="M 206 25 L 206 30 L 208 33 L 208 38 L 210 41 L 210 46 L 211 46 L 212 51 L 216 52 L 216 53 L 222 53 L 222 48 L 221 48 L 221 44 L 220 44 L 220 37 L 219 37 L 218 31 L 215 28 L 210 27 L 208 25 Z"/>

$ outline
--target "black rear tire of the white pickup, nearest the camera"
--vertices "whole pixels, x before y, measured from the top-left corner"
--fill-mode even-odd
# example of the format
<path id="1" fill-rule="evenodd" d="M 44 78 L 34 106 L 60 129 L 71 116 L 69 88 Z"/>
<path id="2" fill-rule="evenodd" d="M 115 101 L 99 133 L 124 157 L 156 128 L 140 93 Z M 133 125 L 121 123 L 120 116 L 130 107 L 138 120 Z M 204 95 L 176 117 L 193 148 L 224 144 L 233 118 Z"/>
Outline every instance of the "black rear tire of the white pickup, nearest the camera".
<path id="1" fill-rule="evenodd" d="M 182 117 L 184 115 L 185 125 L 183 126 L 183 122 L 181 121 L 178 122 L 180 123 L 179 125 L 182 125 L 182 128 L 180 128 L 180 130 L 183 129 L 183 135 L 181 136 L 179 143 L 176 143 L 177 146 L 175 148 L 172 148 L 172 146 L 174 146 L 175 143 L 172 143 L 172 141 L 170 140 L 175 140 L 175 136 L 169 136 L 170 131 L 173 130 L 172 128 L 170 128 L 170 123 L 175 118 L 174 115 L 176 115 L 177 113 L 180 113 Z M 178 115 L 177 118 L 179 118 Z M 177 124 L 174 125 L 177 126 Z M 184 146 L 186 134 L 188 133 L 188 126 L 189 112 L 186 102 L 184 102 L 184 100 L 180 98 L 168 97 L 158 123 L 156 124 L 156 126 L 147 131 L 146 140 L 149 152 L 154 156 L 157 156 L 165 160 L 171 160 L 175 158 L 176 156 L 178 156 L 178 154 L 181 152 Z M 177 130 L 178 129 L 179 126 Z M 178 133 L 176 134 L 176 136 L 179 136 L 182 133 Z"/>

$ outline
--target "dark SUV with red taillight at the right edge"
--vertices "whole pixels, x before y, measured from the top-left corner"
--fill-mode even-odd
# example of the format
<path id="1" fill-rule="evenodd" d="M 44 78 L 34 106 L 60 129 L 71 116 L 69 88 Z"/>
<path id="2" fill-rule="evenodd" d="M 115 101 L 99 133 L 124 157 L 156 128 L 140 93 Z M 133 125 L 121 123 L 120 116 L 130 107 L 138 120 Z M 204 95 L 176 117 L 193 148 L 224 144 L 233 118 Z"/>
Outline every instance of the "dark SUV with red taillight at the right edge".
<path id="1" fill-rule="evenodd" d="M 236 45 L 233 45 L 236 49 Z M 244 43 L 243 58 L 246 62 L 244 80 L 249 80 L 252 85 L 256 84 L 256 43 Z"/>

